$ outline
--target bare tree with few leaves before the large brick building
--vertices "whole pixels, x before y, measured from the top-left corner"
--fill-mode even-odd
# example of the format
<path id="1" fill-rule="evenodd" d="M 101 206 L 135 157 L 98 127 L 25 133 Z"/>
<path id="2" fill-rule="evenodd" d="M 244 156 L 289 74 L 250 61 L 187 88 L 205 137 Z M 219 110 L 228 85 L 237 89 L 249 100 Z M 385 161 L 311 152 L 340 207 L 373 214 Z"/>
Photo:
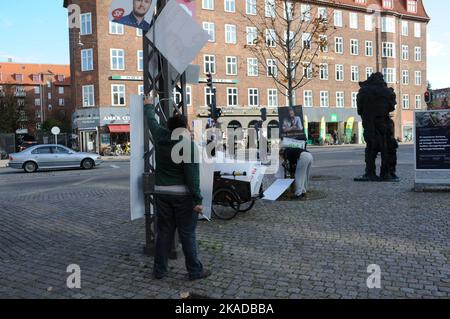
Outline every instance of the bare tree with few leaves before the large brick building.
<path id="1" fill-rule="evenodd" d="M 316 77 L 334 33 L 329 19 L 333 0 L 253 0 L 243 12 L 251 29 L 245 46 L 258 59 L 258 69 L 272 77 L 278 90 L 294 105 L 295 91 Z M 250 7 L 249 7 L 250 5 Z M 325 6 L 326 5 L 326 6 Z M 298 72 L 301 71 L 301 72 Z M 327 72 L 327 70 L 323 70 Z"/>

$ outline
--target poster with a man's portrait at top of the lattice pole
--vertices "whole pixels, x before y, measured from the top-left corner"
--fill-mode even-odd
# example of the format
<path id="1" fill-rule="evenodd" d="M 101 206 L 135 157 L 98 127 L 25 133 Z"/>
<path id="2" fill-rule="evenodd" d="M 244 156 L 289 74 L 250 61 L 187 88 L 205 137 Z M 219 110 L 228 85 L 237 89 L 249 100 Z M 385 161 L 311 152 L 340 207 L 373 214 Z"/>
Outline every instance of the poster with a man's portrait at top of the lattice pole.
<path id="1" fill-rule="evenodd" d="M 109 20 L 148 31 L 157 0 L 113 0 Z"/>

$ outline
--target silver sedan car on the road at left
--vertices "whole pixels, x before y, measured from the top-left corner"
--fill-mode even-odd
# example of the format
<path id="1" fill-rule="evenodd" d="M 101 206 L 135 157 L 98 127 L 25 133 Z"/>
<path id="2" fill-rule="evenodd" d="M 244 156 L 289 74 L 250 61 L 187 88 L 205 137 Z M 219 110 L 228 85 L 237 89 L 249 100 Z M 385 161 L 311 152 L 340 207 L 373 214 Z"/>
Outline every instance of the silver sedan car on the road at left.
<path id="1" fill-rule="evenodd" d="M 61 145 L 43 144 L 20 153 L 9 154 L 9 167 L 34 173 L 40 169 L 83 168 L 91 169 L 102 163 L 93 153 L 79 153 Z"/>

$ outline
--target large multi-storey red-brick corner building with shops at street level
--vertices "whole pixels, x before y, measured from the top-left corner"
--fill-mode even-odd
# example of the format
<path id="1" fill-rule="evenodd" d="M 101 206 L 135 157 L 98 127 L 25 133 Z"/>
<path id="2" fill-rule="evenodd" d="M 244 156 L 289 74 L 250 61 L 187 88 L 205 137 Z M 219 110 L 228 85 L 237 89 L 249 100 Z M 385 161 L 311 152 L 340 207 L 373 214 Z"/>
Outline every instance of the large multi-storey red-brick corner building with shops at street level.
<path id="1" fill-rule="evenodd" d="M 257 2 L 271 0 L 256 0 Z M 329 22 L 335 32 L 328 39 L 327 72 L 295 93 L 303 105 L 308 135 L 316 139 L 320 126 L 341 136 L 350 130 L 354 142 L 362 139 L 356 113 L 358 81 L 374 71 L 385 74 L 398 96 L 393 114 L 396 136 L 412 131 L 415 109 L 425 107 L 426 34 L 429 18 L 421 0 L 298 1 L 332 10 Z M 246 14 L 255 0 L 197 0 L 196 19 L 211 40 L 194 64 L 212 70 L 218 106 L 224 116 L 222 127 L 251 126 L 260 107 L 268 107 L 265 126 L 277 126 L 277 106 L 286 105 L 281 92 L 265 72 L 250 74 L 249 27 Z M 101 144 L 126 137 L 130 94 L 142 92 L 142 36 L 136 29 L 108 21 L 111 0 L 65 0 L 64 5 L 81 8 L 81 29 L 70 30 L 73 100 L 77 106 L 74 127 L 81 146 L 100 150 Z M 369 9 L 375 9 L 375 13 Z M 330 11 L 331 12 L 331 11 Z M 376 23 L 381 16 L 380 23 Z M 257 61 L 257 63 L 259 63 Z M 201 73 L 203 73 L 201 72 Z M 188 112 L 206 122 L 209 91 L 204 76 L 199 85 L 188 85 Z M 124 126 L 125 124 L 125 126 Z"/>

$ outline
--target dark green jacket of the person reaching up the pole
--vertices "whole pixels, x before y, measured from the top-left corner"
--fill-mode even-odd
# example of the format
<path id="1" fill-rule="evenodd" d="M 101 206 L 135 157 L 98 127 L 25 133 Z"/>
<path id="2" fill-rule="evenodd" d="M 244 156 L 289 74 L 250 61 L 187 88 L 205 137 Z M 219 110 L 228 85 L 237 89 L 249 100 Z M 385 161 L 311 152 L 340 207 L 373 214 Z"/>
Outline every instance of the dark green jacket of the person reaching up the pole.
<path id="1" fill-rule="evenodd" d="M 190 142 L 192 154 L 190 163 L 174 163 L 171 157 L 172 147 L 179 141 L 172 140 L 172 132 L 159 125 L 153 105 L 145 105 L 144 112 L 155 142 L 156 185 L 186 185 L 193 196 L 194 204 L 201 205 L 203 198 L 200 192 L 200 170 L 199 164 L 194 162 L 194 158 L 198 158 L 195 156 L 197 154 L 194 155 L 194 152 L 197 152 L 195 144 Z"/>

